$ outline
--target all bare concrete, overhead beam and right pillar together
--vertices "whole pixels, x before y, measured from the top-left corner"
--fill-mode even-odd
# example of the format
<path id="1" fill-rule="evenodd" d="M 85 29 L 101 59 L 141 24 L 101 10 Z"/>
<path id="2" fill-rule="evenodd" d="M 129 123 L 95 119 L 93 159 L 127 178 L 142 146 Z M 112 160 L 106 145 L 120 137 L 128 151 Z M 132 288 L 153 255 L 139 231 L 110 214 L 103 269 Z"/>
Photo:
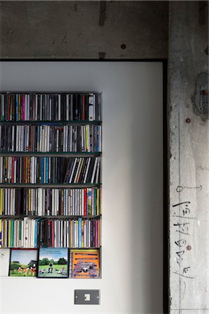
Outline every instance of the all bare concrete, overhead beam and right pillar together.
<path id="1" fill-rule="evenodd" d="M 197 77 L 208 73 L 207 1 L 106 1 L 101 15 L 100 1 L 0 3 L 1 58 L 169 57 L 169 302 L 172 314 L 207 313 L 208 121 L 195 101 Z M 173 205 L 181 200 L 196 219 L 179 265 L 182 221 L 173 217 Z M 179 274 L 185 267 L 195 278 Z"/>

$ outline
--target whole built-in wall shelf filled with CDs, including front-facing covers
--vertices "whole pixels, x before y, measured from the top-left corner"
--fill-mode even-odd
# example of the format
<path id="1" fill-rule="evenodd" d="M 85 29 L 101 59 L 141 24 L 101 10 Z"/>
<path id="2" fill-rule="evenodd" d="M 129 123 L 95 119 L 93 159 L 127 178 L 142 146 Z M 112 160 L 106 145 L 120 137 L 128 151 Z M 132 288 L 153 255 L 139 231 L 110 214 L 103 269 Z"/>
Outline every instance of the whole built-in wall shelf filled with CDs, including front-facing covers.
<path id="1" fill-rule="evenodd" d="M 101 278 L 101 98 L 0 92 L 0 248 L 10 249 L 9 276 L 52 277 L 41 262 L 59 254 L 66 261 L 61 271 L 54 263 L 52 278 Z M 26 248 L 33 274 L 29 264 L 13 267 Z"/>

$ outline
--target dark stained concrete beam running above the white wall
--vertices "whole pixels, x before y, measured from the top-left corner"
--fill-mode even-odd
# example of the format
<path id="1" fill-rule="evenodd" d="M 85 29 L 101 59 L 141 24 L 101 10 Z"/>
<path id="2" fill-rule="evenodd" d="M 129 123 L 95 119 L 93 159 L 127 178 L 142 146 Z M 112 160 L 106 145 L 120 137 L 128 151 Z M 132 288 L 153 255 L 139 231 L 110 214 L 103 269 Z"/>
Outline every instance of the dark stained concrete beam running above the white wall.
<path id="1" fill-rule="evenodd" d="M 168 2 L 148 3 L 1 1 L 1 58 L 167 57 Z"/>

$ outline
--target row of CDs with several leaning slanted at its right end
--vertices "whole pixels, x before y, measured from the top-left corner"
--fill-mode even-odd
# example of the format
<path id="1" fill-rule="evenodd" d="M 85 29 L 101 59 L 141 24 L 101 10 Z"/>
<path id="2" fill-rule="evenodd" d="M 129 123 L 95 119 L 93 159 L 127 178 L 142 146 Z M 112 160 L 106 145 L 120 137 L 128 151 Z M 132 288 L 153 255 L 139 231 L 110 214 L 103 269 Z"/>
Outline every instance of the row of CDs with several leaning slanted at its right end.
<path id="1" fill-rule="evenodd" d="M 100 157 L 0 157 L 0 183 L 86 184 L 100 182 Z"/>

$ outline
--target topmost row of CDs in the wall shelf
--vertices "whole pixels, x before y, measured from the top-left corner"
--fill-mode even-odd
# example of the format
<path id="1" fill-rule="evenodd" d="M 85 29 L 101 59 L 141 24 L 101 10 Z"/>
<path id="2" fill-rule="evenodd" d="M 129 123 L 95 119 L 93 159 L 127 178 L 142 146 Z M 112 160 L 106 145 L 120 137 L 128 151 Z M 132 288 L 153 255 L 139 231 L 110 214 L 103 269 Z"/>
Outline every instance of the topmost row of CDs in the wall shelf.
<path id="1" fill-rule="evenodd" d="M 1 121 L 100 121 L 100 94 L 0 95 Z"/>

